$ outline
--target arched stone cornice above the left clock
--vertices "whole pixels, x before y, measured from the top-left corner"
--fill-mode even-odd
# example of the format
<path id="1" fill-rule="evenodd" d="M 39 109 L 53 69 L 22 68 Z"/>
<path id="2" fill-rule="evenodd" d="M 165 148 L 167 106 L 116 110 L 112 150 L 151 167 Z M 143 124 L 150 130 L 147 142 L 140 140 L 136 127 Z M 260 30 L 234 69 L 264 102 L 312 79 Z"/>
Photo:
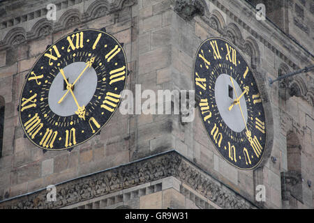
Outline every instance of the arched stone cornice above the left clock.
<path id="1" fill-rule="evenodd" d="M 109 3 L 107 0 L 95 0 L 83 13 L 80 13 L 80 10 L 75 7 L 71 7 L 82 3 L 84 3 L 82 0 L 54 1 L 54 4 L 57 6 L 57 11 L 68 10 L 59 17 L 59 20 L 53 22 L 46 19 L 46 4 L 43 4 L 41 8 L 35 11 L 30 11 L 14 18 L 3 18 L 3 21 L 0 22 L 0 30 L 3 31 L 3 33 L 8 29 L 10 30 L 3 39 L 0 39 L 0 50 L 8 49 L 11 45 L 18 45 L 25 41 L 56 33 L 63 29 L 69 29 L 77 24 L 89 22 L 90 20 L 103 17 L 110 13 L 116 13 L 122 8 L 135 5 L 137 0 L 114 0 L 112 3 Z M 27 25 L 24 23 L 32 22 L 31 20 L 38 18 L 40 18 L 40 20 L 31 26 L 31 30 L 26 30 Z M 19 33 L 17 33 L 17 31 Z"/>

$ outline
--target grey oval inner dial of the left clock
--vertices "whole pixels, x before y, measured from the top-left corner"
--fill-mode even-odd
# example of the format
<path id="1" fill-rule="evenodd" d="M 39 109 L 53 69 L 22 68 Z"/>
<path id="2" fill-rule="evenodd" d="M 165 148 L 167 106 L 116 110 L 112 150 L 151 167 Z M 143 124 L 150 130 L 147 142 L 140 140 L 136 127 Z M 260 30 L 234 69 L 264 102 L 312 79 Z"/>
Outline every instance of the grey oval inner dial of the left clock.
<path id="1" fill-rule="evenodd" d="M 87 66 L 85 62 L 75 62 L 63 68 L 64 75 L 68 79 L 69 84 L 73 84 L 75 79 L 80 75 L 80 73 Z M 48 104 L 52 112 L 59 116 L 71 116 L 77 111 L 77 105 L 72 94 L 69 92 L 64 100 L 58 104 L 59 100 L 66 93 L 64 89 L 64 79 L 61 72 L 54 78 L 50 86 L 50 91 L 48 95 Z M 83 75 L 75 83 L 73 93 L 77 99 L 80 107 L 87 105 L 91 98 L 93 97 L 97 86 L 97 74 L 93 67 L 87 68 Z"/>

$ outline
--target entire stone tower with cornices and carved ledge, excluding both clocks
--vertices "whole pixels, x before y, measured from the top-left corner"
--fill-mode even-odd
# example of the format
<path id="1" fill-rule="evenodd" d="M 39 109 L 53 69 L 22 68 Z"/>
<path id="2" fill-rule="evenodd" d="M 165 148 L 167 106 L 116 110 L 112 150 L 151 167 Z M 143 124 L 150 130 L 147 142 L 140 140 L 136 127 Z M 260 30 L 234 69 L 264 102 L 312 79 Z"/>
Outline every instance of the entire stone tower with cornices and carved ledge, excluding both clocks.
<path id="1" fill-rule="evenodd" d="M 54 3 L 56 20 L 47 20 Z M 266 20 L 257 20 L 257 3 Z M 314 1 L 0 1 L 0 208 L 313 208 Z M 267 146 L 253 170 L 233 167 L 195 118 L 114 113 L 72 151 L 43 151 L 24 137 L 17 107 L 25 76 L 47 45 L 78 29 L 124 43 L 126 89 L 194 89 L 197 48 L 232 42 L 254 71 L 267 113 Z M 142 100 L 144 101 L 144 100 Z M 47 201 L 54 185 L 57 201 Z M 264 186 L 264 201 L 257 185 Z"/>

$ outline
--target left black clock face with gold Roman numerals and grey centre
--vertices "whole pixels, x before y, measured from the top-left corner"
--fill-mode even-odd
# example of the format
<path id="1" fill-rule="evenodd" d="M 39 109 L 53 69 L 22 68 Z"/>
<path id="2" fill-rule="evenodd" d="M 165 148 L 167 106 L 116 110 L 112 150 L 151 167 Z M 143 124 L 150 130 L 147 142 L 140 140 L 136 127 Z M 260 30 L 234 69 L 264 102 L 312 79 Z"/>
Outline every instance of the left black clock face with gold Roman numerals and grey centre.
<path id="1" fill-rule="evenodd" d="M 110 34 L 75 31 L 36 61 L 20 97 L 20 122 L 36 146 L 63 150 L 84 143 L 107 123 L 127 79 L 126 54 Z"/>

